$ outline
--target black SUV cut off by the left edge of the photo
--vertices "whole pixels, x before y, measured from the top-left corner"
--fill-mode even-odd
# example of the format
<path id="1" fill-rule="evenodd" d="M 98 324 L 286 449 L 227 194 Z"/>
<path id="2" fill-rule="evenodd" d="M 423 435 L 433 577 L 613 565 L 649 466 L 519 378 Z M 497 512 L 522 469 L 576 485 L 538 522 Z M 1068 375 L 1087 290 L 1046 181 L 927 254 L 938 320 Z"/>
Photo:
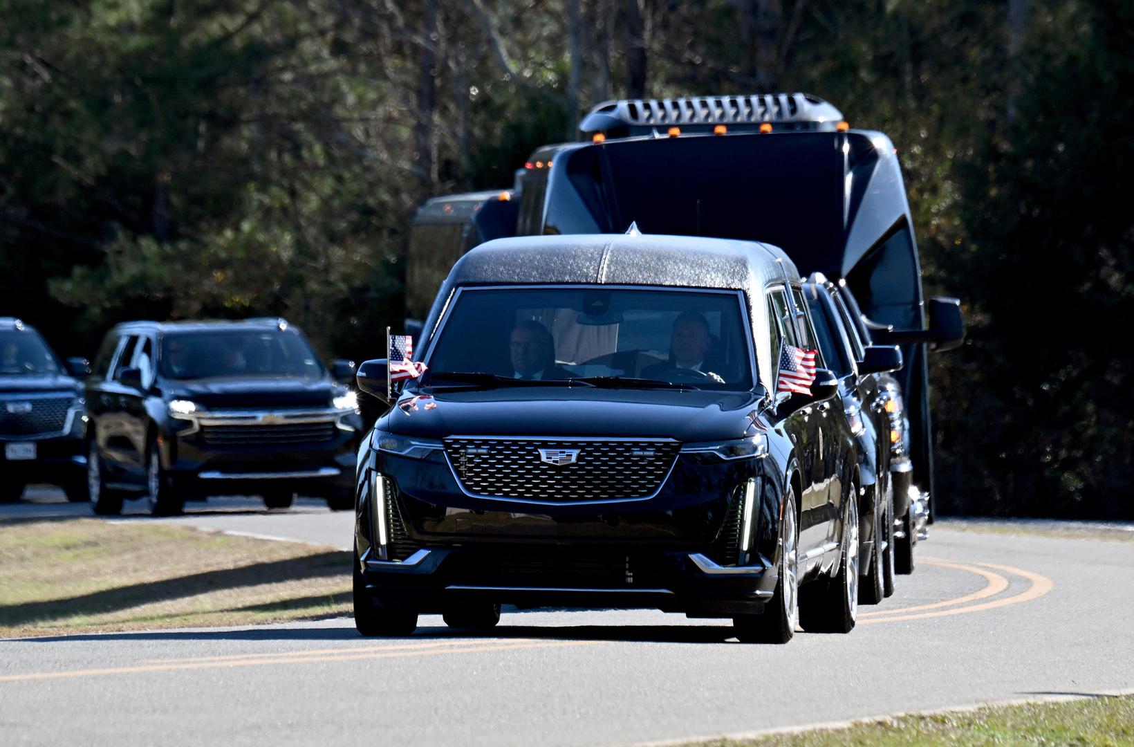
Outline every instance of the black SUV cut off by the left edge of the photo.
<path id="1" fill-rule="evenodd" d="M 70 373 L 86 360 L 68 359 Z M 83 392 L 40 333 L 0 317 L 0 502 L 27 483 L 61 485 L 68 500 L 86 500 Z"/>

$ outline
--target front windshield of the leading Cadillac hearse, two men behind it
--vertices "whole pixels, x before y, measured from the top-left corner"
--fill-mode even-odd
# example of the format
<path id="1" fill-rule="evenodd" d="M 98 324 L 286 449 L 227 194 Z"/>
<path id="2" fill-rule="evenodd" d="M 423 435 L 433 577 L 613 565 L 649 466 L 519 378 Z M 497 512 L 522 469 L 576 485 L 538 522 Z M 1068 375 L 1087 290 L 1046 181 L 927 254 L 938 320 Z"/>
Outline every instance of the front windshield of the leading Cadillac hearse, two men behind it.
<path id="1" fill-rule="evenodd" d="M 593 379 L 748 390 L 743 308 L 735 291 L 464 288 L 426 360 L 426 383 L 460 373 L 498 383 Z"/>

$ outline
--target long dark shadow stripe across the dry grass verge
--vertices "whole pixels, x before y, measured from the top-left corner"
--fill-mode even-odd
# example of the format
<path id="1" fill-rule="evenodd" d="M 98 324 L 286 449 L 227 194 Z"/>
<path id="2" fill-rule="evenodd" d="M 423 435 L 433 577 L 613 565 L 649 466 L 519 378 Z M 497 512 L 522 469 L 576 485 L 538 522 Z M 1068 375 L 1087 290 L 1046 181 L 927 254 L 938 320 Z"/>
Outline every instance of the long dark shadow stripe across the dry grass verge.
<path id="1" fill-rule="evenodd" d="M 160 582 L 135 584 L 69 599 L 0 605 L 0 626 L 20 627 L 62 617 L 105 614 L 143 604 L 167 602 L 217 592 L 256 586 L 269 582 L 293 582 L 341 577 L 350 568 L 349 552 L 322 552 L 303 558 L 253 563 L 239 568 L 210 570 Z M 79 636 L 81 637 L 81 636 Z"/>

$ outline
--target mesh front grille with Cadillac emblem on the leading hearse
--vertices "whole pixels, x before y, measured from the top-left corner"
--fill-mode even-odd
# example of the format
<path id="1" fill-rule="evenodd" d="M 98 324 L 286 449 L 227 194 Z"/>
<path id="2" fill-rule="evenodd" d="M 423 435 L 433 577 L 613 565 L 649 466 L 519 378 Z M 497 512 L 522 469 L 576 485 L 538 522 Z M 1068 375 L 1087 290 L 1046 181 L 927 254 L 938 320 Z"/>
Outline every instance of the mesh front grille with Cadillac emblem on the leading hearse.
<path id="1" fill-rule="evenodd" d="M 575 451 L 556 466 L 541 449 Z M 649 498 L 658 492 L 680 444 L 668 440 L 603 441 L 447 439 L 446 453 L 464 489 L 475 495 L 548 503 Z"/>

